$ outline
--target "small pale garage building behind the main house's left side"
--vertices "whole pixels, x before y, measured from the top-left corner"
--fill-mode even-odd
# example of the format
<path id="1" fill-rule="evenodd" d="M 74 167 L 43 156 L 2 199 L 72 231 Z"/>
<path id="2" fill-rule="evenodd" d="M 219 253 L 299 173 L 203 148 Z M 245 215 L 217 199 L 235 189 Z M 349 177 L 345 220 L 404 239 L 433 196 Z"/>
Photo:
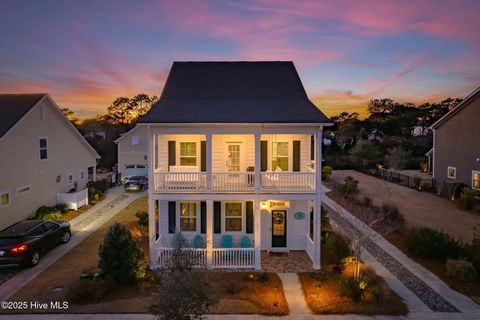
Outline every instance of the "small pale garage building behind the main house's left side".
<path id="1" fill-rule="evenodd" d="M 148 177 L 147 128 L 136 126 L 115 140 L 118 154 L 118 173 L 121 179 L 133 176 Z"/>

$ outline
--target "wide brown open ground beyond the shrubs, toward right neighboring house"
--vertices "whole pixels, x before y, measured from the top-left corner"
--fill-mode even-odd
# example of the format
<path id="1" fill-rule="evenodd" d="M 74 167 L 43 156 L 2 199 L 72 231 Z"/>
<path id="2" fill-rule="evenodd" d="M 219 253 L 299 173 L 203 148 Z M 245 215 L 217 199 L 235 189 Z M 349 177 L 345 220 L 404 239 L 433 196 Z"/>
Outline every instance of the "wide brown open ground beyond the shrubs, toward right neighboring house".
<path id="1" fill-rule="evenodd" d="M 430 227 L 471 241 L 473 228 L 480 223 L 480 215 L 458 209 L 455 204 L 435 194 L 419 192 L 407 187 L 369 176 L 354 170 L 334 171 L 330 179 L 343 183 L 347 176 L 359 181 L 357 198 L 369 197 L 375 205 L 395 204 L 408 227 Z"/>

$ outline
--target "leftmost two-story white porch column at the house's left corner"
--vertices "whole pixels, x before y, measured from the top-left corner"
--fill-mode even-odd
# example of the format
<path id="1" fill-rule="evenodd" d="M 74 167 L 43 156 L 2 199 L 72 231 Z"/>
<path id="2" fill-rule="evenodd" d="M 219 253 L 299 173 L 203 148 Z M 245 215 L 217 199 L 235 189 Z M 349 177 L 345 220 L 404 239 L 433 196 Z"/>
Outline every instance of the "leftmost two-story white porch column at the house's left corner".
<path id="1" fill-rule="evenodd" d="M 150 252 L 150 269 L 156 268 L 155 259 L 155 200 L 153 199 L 153 139 L 152 130 L 148 126 L 148 248 Z"/>

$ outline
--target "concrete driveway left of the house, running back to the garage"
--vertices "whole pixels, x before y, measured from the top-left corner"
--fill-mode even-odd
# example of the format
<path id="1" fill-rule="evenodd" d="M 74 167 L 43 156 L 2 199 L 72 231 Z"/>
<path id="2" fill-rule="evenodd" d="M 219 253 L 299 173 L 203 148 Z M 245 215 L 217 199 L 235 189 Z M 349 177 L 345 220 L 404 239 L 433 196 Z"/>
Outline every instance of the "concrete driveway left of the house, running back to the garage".
<path id="1" fill-rule="evenodd" d="M 61 245 L 41 258 L 40 263 L 34 268 L 24 269 L 13 278 L 0 286 L 0 301 L 5 301 L 32 279 L 50 267 L 65 253 L 82 242 L 101 225 L 106 223 L 117 213 L 127 207 L 135 199 L 144 196 L 144 193 L 125 194 L 123 187 L 116 187 L 107 191 L 105 199 L 93 206 L 83 214 L 70 221 L 72 239 L 67 244 Z M 30 319 L 33 315 L 30 316 Z M 14 316 L 11 316 L 12 318 Z M 34 316 L 35 318 L 37 315 Z M 11 319 L 11 318 L 10 318 Z M 29 319 L 23 318 L 23 319 Z"/>

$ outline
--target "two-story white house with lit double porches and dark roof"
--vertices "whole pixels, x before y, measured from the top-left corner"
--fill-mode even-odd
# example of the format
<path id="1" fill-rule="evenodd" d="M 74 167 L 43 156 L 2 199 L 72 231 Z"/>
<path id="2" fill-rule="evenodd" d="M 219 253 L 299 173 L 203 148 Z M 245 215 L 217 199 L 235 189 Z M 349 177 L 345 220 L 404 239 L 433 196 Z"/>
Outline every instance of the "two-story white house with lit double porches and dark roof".
<path id="1" fill-rule="evenodd" d="M 261 269 L 261 251 L 320 268 L 322 129 L 292 62 L 175 62 L 148 137 L 151 267 L 181 233 L 210 268 Z"/>

